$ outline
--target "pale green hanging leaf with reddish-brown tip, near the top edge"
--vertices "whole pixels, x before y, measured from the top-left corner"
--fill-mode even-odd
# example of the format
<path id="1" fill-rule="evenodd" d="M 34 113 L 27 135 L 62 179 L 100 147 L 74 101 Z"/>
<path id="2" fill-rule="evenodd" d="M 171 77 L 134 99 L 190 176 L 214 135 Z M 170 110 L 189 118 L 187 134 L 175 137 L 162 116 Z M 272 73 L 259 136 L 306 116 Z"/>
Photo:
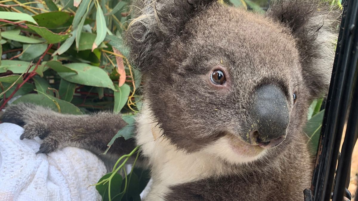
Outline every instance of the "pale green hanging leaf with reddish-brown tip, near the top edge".
<path id="1" fill-rule="evenodd" d="M 103 11 L 100 4 L 97 1 L 97 13 L 96 13 L 96 25 L 97 25 L 97 36 L 95 42 L 92 45 L 92 52 L 105 40 L 107 34 L 107 24 Z"/>

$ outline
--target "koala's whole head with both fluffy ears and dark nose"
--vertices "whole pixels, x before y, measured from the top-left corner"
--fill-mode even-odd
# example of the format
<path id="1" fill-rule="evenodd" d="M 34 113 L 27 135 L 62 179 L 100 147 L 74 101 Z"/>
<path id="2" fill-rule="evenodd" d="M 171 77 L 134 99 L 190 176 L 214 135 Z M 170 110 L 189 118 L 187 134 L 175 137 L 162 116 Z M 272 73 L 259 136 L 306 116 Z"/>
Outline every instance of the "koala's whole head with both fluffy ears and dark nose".
<path id="1" fill-rule="evenodd" d="M 333 65 L 339 13 L 321 6 L 280 1 L 264 16 L 214 0 L 148 1 L 126 38 L 164 136 L 233 163 L 299 143 Z"/>

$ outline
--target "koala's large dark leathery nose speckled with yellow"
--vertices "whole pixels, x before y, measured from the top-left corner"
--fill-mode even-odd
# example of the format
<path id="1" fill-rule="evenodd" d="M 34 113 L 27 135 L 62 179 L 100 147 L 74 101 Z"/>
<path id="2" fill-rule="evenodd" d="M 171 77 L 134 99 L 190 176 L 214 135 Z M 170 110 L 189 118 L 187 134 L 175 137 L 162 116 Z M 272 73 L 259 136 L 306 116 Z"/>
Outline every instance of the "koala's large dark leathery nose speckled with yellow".
<path id="1" fill-rule="evenodd" d="M 250 141 L 262 148 L 279 145 L 290 121 L 287 98 L 275 85 L 263 85 L 253 94 Z"/>

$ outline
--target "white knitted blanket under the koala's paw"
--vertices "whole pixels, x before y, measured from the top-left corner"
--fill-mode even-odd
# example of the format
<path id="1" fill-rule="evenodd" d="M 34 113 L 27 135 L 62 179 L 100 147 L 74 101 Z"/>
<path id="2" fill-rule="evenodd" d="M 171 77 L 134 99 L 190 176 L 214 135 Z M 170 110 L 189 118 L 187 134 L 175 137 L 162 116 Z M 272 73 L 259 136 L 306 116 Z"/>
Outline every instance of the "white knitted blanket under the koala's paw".
<path id="1" fill-rule="evenodd" d="M 0 124 L 0 201 L 101 200 L 95 186 L 103 162 L 84 149 L 67 147 L 35 154 L 40 139 L 23 139 L 23 128 Z"/>

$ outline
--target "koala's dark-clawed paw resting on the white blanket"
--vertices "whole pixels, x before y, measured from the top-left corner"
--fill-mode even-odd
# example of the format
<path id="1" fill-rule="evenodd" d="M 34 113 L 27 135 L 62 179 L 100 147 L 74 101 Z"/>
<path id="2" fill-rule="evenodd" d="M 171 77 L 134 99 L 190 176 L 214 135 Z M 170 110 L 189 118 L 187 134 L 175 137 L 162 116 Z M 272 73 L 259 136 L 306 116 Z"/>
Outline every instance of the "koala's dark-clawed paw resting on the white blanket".
<path id="1" fill-rule="evenodd" d="M 50 153 L 66 146 L 67 136 L 59 132 L 53 112 L 33 104 L 19 103 L 5 109 L 3 122 L 15 123 L 24 128 L 20 139 L 43 139 L 37 153 Z"/>

